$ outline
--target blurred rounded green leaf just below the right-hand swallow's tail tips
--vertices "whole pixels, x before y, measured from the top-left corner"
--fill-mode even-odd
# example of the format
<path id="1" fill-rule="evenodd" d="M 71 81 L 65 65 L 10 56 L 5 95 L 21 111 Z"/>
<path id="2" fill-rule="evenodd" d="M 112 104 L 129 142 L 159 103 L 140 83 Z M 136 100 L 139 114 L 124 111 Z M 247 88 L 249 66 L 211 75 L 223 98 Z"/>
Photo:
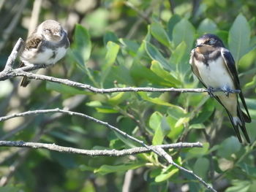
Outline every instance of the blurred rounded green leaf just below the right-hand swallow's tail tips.
<path id="1" fill-rule="evenodd" d="M 232 136 L 225 139 L 221 143 L 217 151 L 217 154 L 222 158 L 230 158 L 230 155 L 232 155 L 233 153 L 237 153 L 240 150 L 240 148 L 240 142 L 238 142 L 238 139 L 236 137 Z"/>

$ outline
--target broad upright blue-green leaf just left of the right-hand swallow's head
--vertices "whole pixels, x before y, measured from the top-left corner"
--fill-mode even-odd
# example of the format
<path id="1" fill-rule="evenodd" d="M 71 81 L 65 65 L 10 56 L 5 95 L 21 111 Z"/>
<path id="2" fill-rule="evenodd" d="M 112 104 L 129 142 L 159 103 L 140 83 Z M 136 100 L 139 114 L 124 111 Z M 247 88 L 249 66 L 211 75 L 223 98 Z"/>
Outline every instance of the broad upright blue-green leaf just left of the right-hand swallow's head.
<path id="1" fill-rule="evenodd" d="M 182 19 L 173 28 L 173 42 L 178 46 L 181 42 L 187 45 L 187 52 L 192 48 L 194 42 L 195 28 L 187 19 Z"/>

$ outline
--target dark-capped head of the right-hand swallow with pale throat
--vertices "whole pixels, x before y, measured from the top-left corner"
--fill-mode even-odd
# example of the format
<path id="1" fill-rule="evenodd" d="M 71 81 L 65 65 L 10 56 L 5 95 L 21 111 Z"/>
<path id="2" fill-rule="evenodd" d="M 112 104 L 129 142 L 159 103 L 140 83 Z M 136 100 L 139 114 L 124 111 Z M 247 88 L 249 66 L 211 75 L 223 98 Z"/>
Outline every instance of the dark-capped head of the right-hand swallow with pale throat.
<path id="1" fill-rule="evenodd" d="M 204 34 L 199 37 L 196 42 L 196 50 L 199 53 L 209 53 L 216 49 L 216 47 L 224 47 L 223 42 L 214 34 Z"/>

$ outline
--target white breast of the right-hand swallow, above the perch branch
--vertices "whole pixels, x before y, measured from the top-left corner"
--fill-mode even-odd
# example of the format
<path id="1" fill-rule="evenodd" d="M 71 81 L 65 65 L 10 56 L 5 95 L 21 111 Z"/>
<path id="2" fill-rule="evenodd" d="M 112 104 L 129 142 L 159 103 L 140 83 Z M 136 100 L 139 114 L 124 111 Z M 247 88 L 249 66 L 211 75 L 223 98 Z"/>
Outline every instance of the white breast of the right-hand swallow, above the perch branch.
<path id="1" fill-rule="evenodd" d="M 202 61 L 195 60 L 201 79 L 207 87 L 211 88 L 231 88 L 235 89 L 232 77 L 227 71 L 225 61 L 222 56 L 215 60 L 209 60 L 208 65 Z"/>

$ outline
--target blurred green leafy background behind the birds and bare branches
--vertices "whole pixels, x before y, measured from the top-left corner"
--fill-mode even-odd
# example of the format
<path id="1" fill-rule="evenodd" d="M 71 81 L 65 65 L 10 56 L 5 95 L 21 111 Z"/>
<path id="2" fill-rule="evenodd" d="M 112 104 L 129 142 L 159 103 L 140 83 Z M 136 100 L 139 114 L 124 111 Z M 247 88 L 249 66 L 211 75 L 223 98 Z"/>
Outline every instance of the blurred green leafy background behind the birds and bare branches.
<path id="1" fill-rule="evenodd" d="M 33 7 L 34 1 L 0 0 L 0 70 L 18 38 L 26 39 Z M 217 191 L 255 191 L 255 0 L 43 0 L 39 8 L 38 23 L 58 20 L 71 42 L 65 58 L 41 73 L 97 88 L 202 88 L 189 53 L 197 37 L 217 34 L 236 60 L 252 145 L 238 142 L 225 110 L 207 93 L 101 94 L 39 80 L 20 88 L 20 78 L 13 78 L 0 82 L 1 116 L 59 107 L 104 120 L 148 145 L 202 142 L 203 148 L 168 153 Z M 0 140 L 89 150 L 135 145 L 97 123 L 61 114 L 1 122 Z M 0 148 L 0 183 L 8 176 L 0 191 L 122 191 L 128 174 L 129 191 L 206 191 L 153 153 L 92 158 Z"/>

